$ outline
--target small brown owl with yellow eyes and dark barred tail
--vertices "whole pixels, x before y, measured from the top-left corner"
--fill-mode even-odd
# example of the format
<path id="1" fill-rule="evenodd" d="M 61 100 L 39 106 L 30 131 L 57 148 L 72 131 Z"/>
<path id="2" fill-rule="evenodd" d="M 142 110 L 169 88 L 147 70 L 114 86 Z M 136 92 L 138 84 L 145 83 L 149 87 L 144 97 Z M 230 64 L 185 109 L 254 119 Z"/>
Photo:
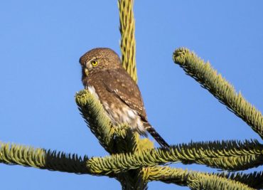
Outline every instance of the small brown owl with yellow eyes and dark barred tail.
<path id="1" fill-rule="evenodd" d="M 138 85 L 122 67 L 117 53 L 109 48 L 95 48 L 80 58 L 82 83 L 102 103 L 114 125 L 127 123 L 144 136 L 146 131 L 162 146 L 165 140 L 146 117 Z"/>

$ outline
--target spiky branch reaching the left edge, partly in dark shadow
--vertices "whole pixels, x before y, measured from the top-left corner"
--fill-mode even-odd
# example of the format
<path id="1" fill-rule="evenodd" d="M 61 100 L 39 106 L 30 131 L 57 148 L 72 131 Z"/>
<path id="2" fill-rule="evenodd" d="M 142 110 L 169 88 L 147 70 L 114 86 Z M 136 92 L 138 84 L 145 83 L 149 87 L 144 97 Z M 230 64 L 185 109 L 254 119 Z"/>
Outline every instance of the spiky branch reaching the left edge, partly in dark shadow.
<path id="1" fill-rule="evenodd" d="M 64 152 L 0 142 L 0 162 L 4 164 L 18 164 L 24 167 L 75 174 L 92 174 L 87 168 L 87 160 L 87 156 L 82 158 L 77 154 L 65 154 Z"/>

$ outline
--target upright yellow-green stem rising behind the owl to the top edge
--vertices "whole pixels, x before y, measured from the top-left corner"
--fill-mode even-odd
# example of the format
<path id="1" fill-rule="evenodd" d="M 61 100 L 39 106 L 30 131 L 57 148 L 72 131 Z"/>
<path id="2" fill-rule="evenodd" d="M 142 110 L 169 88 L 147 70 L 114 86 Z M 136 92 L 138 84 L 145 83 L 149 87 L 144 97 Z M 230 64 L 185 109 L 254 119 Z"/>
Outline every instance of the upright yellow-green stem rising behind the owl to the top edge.
<path id="1" fill-rule="evenodd" d="M 120 42 L 122 65 L 137 82 L 135 60 L 135 21 L 133 12 L 134 0 L 118 0 L 118 6 L 119 31 L 122 36 Z"/>

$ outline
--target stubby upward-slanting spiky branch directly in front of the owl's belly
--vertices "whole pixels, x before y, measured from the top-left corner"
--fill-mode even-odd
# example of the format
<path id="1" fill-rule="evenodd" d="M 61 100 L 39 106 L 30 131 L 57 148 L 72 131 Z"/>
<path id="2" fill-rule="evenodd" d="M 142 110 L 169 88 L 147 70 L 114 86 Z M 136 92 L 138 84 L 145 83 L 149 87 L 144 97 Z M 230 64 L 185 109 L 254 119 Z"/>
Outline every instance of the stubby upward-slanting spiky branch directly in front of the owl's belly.
<path id="1" fill-rule="evenodd" d="M 139 134 L 132 132 L 127 124 L 114 126 L 105 115 L 102 104 L 88 90 L 81 90 L 75 95 L 75 101 L 79 107 L 80 114 L 87 126 L 99 139 L 102 147 L 109 153 L 134 152 L 137 146 L 144 149 L 154 148 L 149 139 L 139 139 Z M 141 145 L 143 144 L 143 145 Z M 141 147 L 140 147 L 141 148 Z"/>

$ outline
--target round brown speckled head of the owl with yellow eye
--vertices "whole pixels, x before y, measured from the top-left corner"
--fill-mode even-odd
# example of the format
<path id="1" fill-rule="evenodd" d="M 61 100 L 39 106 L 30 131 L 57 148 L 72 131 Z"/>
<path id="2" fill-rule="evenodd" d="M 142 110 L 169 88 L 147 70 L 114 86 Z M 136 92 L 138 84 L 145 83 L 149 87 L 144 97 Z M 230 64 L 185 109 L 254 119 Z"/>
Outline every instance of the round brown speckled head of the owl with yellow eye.
<path id="1" fill-rule="evenodd" d="M 80 58 L 82 77 L 102 70 L 122 67 L 117 53 L 109 48 L 94 48 Z"/>

